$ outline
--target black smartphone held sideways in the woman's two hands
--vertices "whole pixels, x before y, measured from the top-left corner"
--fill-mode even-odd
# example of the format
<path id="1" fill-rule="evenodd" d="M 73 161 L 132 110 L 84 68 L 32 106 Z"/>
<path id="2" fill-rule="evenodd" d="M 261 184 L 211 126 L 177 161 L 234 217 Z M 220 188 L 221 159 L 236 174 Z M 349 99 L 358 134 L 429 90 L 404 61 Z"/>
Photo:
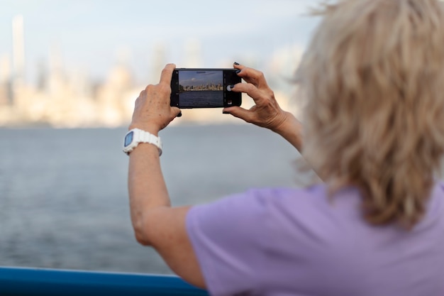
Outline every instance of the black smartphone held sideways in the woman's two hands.
<path id="1" fill-rule="evenodd" d="M 230 86 L 240 82 L 236 71 L 237 69 L 174 69 L 171 106 L 180 109 L 240 106 L 242 94 L 230 91 Z"/>

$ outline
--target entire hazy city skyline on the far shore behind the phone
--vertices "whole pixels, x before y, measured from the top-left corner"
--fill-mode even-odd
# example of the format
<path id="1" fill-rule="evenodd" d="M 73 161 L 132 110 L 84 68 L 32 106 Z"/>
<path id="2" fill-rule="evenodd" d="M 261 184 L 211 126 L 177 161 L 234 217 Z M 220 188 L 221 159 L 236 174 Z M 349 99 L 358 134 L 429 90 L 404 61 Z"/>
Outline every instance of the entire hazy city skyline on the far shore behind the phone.
<path id="1" fill-rule="evenodd" d="M 279 1 L 278 1 L 279 2 Z M 1 12 L 0 12 L 1 15 Z M 10 20 L 9 39 L 11 52 L 0 46 L 0 126 L 48 125 L 54 127 L 121 126 L 131 120 L 135 98 L 146 84 L 157 83 L 160 70 L 170 62 L 170 49 L 165 41 L 152 43 L 145 54 L 143 73 L 134 67 L 134 60 L 140 60 L 135 50 L 118 50 L 118 54 L 107 60 L 101 67 L 101 75 L 82 65 L 70 65 L 70 57 L 61 44 L 48 45 L 47 59 L 33 65 L 29 39 L 33 38 L 28 19 L 21 14 Z M 231 67 L 236 60 L 270 73 L 270 85 L 282 92 L 284 104 L 291 95 L 285 89 L 282 77 L 289 77 L 300 58 L 303 46 L 294 39 L 290 43 L 271 46 L 272 51 L 264 58 L 255 54 L 241 57 L 220 57 L 206 66 L 206 57 L 215 53 L 208 50 L 209 36 L 184 39 L 174 50 L 179 53 L 178 67 Z M 100 40 L 98 40 L 99 42 Z M 254 48 L 254 42 L 250 44 Z M 148 45 L 145 44 L 145 48 Z M 228 45 L 227 45 L 228 46 Z M 244 45 L 245 46 L 245 45 Z M 32 55 L 31 55 L 32 56 Z M 101 55 L 97 55 L 100 60 Z M 224 60 L 226 59 L 226 60 Z M 71 61 L 72 62 L 72 61 Z M 99 65 L 94 62 L 91 65 Z M 289 67 L 289 65 L 292 65 Z M 262 68 L 262 69 L 261 69 Z M 30 70 L 31 69 L 31 70 Z M 30 77 L 33 77 L 30 79 Z M 287 94 L 285 94 L 287 92 Z M 245 102 L 245 100 L 244 100 Z M 211 111 L 187 111 L 181 122 L 214 120 Z M 223 116 L 223 121 L 228 116 Z M 216 117 L 216 121 L 218 117 Z"/>

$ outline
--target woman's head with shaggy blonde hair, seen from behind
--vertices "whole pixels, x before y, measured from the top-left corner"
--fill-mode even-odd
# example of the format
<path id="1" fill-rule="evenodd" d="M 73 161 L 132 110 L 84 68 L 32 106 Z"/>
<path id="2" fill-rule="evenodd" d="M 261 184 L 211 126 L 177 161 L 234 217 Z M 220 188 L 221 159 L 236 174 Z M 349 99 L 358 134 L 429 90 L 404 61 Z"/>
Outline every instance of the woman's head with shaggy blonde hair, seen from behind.
<path id="1" fill-rule="evenodd" d="M 297 72 L 304 155 L 331 189 L 357 185 L 372 224 L 412 226 L 444 153 L 444 11 L 438 0 L 326 5 Z"/>

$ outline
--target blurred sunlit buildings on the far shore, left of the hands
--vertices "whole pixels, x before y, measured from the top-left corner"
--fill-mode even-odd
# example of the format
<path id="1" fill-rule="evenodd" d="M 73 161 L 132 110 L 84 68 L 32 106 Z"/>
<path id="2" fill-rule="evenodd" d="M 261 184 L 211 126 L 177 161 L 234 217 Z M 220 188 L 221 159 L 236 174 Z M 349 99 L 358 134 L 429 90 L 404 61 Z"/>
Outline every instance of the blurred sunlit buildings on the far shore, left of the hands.
<path id="1" fill-rule="evenodd" d="M 16 16 L 12 58 L 0 55 L 0 126 L 121 126 L 130 121 L 134 83 L 122 59 L 104 82 L 92 82 L 86 71 L 68 73 L 60 46 L 53 45 L 48 65 L 36 66 L 31 86 L 26 84 L 24 39 L 23 17 Z"/>

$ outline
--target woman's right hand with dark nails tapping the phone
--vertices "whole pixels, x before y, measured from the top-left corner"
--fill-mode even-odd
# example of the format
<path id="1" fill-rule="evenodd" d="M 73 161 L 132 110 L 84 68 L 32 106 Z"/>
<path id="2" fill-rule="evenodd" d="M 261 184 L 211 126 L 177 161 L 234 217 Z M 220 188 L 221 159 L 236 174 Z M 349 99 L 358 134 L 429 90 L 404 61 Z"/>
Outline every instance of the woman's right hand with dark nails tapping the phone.
<path id="1" fill-rule="evenodd" d="M 242 77 L 247 83 L 235 84 L 232 91 L 245 92 L 254 100 L 255 106 L 252 106 L 249 110 L 232 106 L 223 109 L 223 112 L 243 119 L 248 123 L 278 131 L 279 127 L 287 120 L 288 114 L 277 104 L 276 99 L 274 99 L 274 92 L 268 87 L 263 73 L 237 63 L 234 64 L 234 67 L 240 70 L 238 76 Z"/>

